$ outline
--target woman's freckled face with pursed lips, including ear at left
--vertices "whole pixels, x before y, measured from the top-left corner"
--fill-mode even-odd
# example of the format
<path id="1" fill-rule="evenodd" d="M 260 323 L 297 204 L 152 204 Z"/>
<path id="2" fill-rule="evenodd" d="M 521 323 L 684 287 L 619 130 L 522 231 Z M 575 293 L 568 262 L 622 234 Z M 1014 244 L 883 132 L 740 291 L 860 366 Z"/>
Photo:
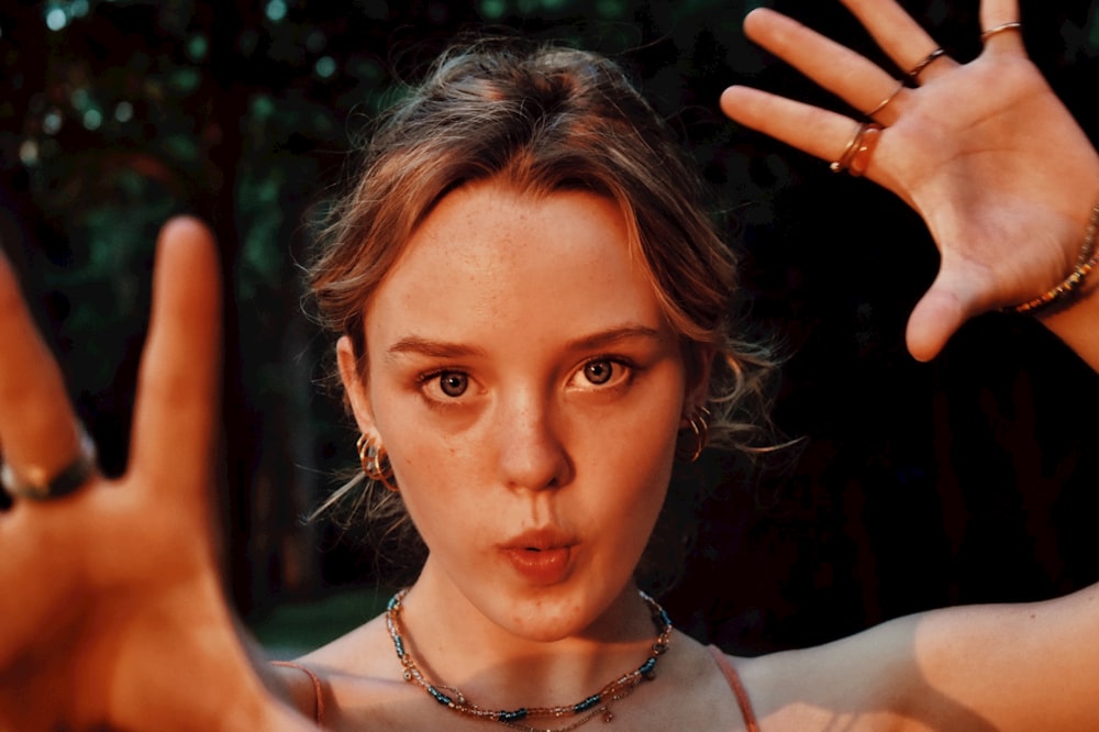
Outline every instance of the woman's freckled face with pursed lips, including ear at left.
<path id="1" fill-rule="evenodd" d="M 643 267 L 604 198 L 470 184 L 369 303 L 365 378 L 341 341 L 430 576 L 517 635 L 596 621 L 660 510 L 687 378 Z"/>

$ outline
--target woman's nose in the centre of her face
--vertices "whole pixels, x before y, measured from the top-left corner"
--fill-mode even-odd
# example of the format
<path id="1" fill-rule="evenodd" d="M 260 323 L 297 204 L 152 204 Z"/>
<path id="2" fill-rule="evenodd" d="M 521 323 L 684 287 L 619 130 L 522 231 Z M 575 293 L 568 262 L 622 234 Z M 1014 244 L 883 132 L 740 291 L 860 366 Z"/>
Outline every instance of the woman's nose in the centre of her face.
<path id="1" fill-rule="evenodd" d="M 496 433 L 503 485 L 521 490 L 565 485 L 571 466 L 552 406 L 545 399 L 523 395 L 501 407 Z"/>

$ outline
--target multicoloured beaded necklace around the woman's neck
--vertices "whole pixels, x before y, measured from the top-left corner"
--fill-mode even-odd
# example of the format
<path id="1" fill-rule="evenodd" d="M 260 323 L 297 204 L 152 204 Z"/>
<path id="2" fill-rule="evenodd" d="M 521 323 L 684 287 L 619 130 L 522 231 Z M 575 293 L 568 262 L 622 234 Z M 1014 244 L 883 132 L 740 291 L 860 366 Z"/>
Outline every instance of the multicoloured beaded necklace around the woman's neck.
<path id="1" fill-rule="evenodd" d="M 614 679 L 596 694 L 575 705 L 562 707 L 520 707 L 519 709 L 511 710 L 484 709 L 466 699 L 465 695 L 453 686 L 433 684 L 429 680 L 419 666 L 415 665 L 412 656 L 409 655 L 408 650 L 404 647 L 404 639 L 401 636 L 401 600 L 408 595 L 408 588 L 400 590 L 389 600 L 389 606 L 386 609 L 386 628 L 389 630 L 389 636 L 393 639 L 397 658 L 404 668 L 404 680 L 419 686 L 435 701 L 447 709 L 474 719 L 499 722 L 504 727 L 522 730 L 523 732 L 568 732 L 568 730 L 575 730 L 597 716 L 602 716 L 604 722 L 610 722 L 614 719 L 614 714 L 610 710 L 612 703 L 630 696 L 643 679 L 652 680 L 656 678 L 656 659 L 667 652 L 671 641 L 671 620 L 668 619 L 668 614 L 656 600 L 640 590 L 639 594 L 641 595 L 641 599 L 648 606 L 650 612 L 653 615 L 653 623 L 657 630 L 656 640 L 653 641 L 652 655 L 641 666 Z M 524 723 L 529 719 L 563 719 L 566 717 L 577 717 L 579 719 L 558 728 L 530 727 Z"/>

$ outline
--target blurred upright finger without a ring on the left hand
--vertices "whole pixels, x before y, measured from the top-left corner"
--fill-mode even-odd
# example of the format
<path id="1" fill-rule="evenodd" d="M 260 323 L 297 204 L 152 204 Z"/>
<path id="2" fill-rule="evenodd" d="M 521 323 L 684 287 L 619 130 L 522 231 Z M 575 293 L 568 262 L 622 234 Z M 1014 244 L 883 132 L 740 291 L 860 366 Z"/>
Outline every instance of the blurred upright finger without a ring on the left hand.
<path id="1" fill-rule="evenodd" d="M 213 235 L 192 218 L 160 230 L 153 310 L 131 437 L 136 489 L 192 491 L 202 504 L 221 382 L 221 279 Z"/>

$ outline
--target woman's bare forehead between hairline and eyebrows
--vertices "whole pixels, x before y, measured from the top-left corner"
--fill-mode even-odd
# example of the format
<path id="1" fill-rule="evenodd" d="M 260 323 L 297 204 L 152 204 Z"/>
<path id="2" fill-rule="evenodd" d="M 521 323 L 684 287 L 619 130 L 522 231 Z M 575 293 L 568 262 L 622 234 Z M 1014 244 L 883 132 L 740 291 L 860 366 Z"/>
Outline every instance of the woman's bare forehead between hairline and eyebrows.
<path id="1" fill-rule="evenodd" d="M 529 340 L 625 323 L 665 328 L 618 204 L 585 191 L 535 196 L 497 180 L 439 202 L 367 311 L 371 347 L 408 331 Z"/>

